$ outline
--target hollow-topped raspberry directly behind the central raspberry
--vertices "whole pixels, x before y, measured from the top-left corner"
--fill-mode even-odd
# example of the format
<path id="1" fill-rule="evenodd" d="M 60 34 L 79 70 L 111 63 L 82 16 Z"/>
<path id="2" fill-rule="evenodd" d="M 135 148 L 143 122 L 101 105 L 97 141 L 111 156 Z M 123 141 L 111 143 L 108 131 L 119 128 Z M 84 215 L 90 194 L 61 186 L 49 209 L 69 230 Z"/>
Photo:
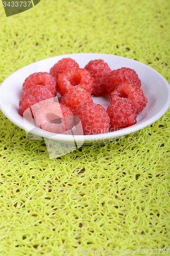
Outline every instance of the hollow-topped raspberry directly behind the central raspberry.
<path id="1" fill-rule="evenodd" d="M 63 93 L 74 86 L 83 88 L 89 93 L 93 90 L 93 79 L 86 69 L 72 68 L 64 71 L 58 77 L 58 84 Z"/>

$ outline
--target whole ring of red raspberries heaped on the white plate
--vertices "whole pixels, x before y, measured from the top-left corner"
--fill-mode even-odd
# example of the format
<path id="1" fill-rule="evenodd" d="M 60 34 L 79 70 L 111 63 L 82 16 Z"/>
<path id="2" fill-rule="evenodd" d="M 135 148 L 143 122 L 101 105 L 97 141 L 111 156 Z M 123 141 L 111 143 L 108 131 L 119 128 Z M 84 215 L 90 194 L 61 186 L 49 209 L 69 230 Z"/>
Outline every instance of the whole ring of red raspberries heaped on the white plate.
<path id="1" fill-rule="evenodd" d="M 110 104 L 105 110 L 92 96 L 107 93 Z M 56 96 L 60 103 L 54 100 Z M 74 59 L 63 58 L 50 73 L 38 72 L 26 78 L 19 114 L 24 116 L 30 110 L 37 126 L 57 134 L 69 134 L 79 119 L 84 135 L 93 135 L 135 124 L 147 102 L 134 70 L 111 71 L 102 59 L 91 60 L 82 69 Z"/>

